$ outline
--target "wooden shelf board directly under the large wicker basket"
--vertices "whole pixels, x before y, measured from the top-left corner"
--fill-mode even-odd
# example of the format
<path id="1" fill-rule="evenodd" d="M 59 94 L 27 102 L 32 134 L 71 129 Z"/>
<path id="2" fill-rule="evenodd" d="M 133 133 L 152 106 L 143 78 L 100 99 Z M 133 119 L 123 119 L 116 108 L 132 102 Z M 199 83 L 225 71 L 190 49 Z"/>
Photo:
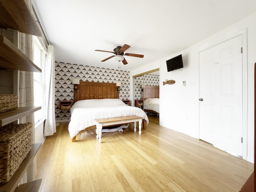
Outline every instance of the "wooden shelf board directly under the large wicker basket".
<path id="1" fill-rule="evenodd" d="M 20 164 L 20 167 L 18 170 L 14 173 L 11 180 L 0 186 L 0 191 L 8 191 L 8 192 L 14 192 L 16 187 L 18 186 L 18 183 L 20 182 L 20 179 L 22 178 L 23 174 L 28 169 L 28 166 L 36 156 L 37 152 L 39 151 L 41 147 L 41 143 L 32 144 L 32 149 L 26 156 L 26 158 L 22 161 Z"/>

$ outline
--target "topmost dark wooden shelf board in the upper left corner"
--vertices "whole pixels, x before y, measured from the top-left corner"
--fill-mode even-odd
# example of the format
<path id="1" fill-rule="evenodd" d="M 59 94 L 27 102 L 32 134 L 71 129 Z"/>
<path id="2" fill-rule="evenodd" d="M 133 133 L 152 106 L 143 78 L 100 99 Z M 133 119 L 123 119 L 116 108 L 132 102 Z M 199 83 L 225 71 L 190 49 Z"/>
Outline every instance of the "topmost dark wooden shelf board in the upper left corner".
<path id="1" fill-rule="evenodd" d="M 35 36 L 42 36 L 24 0 L 0 1 L 0 28 L 10 28 Z"/>

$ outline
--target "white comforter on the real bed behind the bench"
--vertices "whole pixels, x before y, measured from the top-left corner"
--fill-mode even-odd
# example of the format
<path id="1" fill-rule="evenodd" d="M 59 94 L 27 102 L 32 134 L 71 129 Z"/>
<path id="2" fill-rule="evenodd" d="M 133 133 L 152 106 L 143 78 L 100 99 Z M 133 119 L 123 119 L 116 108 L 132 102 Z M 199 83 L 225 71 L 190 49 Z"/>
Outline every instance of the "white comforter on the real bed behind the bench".
<path id="1" fill-rule="evenodd" d="M 148 116 L 137 107 L 127 106 L 120 99 L 87 99 L 77 101 L 71 111 L 71 121 L 68 131 L 71 138 L 74 138 L 81 130 L 96 125 L 96 119 L 140 116 L 148 124 Z"/>

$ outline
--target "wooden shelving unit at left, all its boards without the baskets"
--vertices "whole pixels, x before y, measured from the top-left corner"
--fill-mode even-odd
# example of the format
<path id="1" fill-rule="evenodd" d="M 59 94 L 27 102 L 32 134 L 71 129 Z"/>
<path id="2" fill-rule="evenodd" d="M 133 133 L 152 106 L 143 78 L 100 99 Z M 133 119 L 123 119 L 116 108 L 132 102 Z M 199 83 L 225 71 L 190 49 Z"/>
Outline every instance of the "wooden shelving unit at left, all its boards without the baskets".
<path id="1" fill-rule="evenodd" d="M 24 0 L 0 1 L 0 28 L 18 30 L 26 34 L 42 36 L 30 9 Z M 20 70 L 29 72 L 42 72 L 25 54 L 22 53 L 6 37 L 0 36 L 0 68 L 8 70 Z M 0 126 L 14 122 L 27 116 L 41 107 L 19 107 L 14 110 L 0 113 Z M 28 169 L 29 164 L 36 156 L 41 144 L 32 144 L 32 150 L 22 161 L 11 180 L 0 186 L 0 192 L 38 191 L 42 180 L 36 180 L 20 185 L 20 179 Z"/>

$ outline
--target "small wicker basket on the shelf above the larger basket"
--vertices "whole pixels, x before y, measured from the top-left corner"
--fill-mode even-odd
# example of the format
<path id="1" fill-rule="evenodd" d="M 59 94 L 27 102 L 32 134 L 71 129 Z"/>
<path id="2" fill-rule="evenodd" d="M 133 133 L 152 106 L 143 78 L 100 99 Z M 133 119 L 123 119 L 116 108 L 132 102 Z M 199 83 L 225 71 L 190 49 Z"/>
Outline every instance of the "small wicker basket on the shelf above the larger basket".
<path id="1" fill-rule="evenodd" d="M 16 109 L 18 107 L 18 95 L 0 95 L 0 112 Z"/>

